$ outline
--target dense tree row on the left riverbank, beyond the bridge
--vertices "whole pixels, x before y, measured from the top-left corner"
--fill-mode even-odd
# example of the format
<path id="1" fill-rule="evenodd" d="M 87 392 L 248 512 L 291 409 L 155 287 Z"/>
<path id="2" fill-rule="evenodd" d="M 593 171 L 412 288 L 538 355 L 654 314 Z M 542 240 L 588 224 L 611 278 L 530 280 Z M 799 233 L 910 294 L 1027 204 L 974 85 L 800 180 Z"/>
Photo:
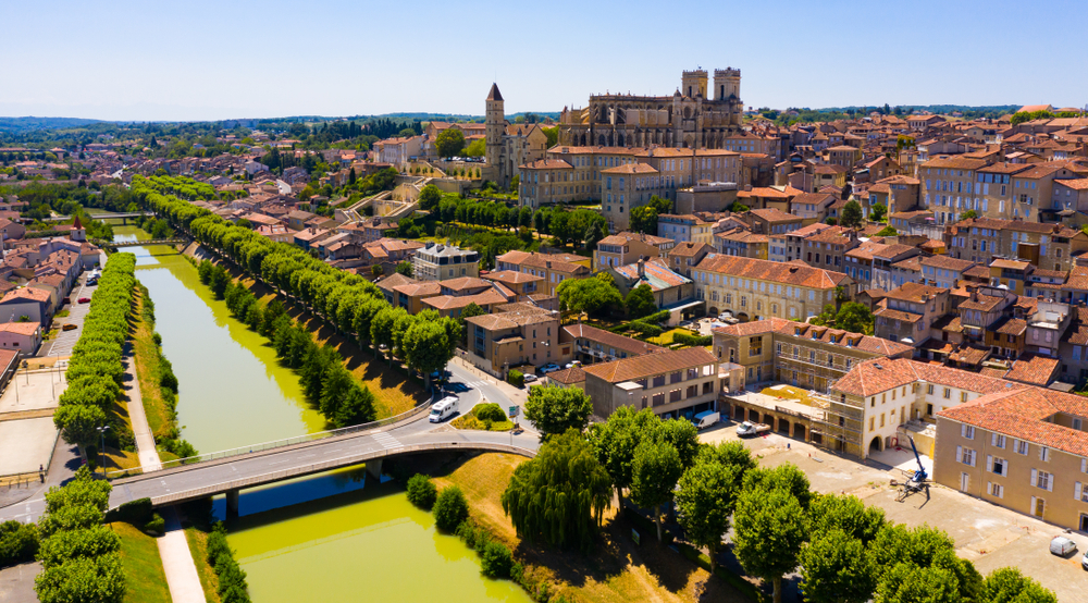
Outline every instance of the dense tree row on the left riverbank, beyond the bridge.
<path id="1" fill-rule="evenodd" d="M 114 254 L 106 262 L 83 334 L 72 348 L 65 372 L 69 385 L 53 415 L 53 422 L 70 443 L 94 443 L 96 428 L 110 423 L 108 416 L 121 395 L 125 373 L 121 356 L 136 291 L 135 268 L 133 254 Z M 116 438 L 115 432 L 126 428 L 123 421 L 112 422 Z"/>

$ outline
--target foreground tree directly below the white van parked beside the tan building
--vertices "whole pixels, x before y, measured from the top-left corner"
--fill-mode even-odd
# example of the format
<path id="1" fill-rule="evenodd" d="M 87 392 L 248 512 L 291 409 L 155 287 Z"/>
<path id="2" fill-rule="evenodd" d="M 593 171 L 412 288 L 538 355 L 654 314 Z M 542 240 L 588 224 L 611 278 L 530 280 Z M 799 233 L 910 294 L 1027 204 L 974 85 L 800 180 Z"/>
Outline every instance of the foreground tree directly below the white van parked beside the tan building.
<path id="1" fill-rule="evenodd" d="M 680 477 L 676 493 L 680 527 L 688 540 L 709 552 L 710 574 L 714 574 L 722 534 L 729 531 L 740 471 L 735 465 L 724 465 L 704 455 Z"/>

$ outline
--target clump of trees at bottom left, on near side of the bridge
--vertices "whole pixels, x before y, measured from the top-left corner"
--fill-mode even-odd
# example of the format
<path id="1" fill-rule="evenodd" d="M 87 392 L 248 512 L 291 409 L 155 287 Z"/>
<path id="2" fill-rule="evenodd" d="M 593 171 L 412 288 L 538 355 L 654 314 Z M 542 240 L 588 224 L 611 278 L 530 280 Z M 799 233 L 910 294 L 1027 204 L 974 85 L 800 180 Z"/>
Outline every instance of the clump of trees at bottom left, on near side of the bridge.
<path id="1" fill-rule="evenodd" d="M 41 574 L 34 580 L 41 603 L 124 601 L 121 538 L 102 525 L 111 490 L 109 482 L 81 467 L 75 479 L 46 493 L 46 513 L 38 522 Z"/>

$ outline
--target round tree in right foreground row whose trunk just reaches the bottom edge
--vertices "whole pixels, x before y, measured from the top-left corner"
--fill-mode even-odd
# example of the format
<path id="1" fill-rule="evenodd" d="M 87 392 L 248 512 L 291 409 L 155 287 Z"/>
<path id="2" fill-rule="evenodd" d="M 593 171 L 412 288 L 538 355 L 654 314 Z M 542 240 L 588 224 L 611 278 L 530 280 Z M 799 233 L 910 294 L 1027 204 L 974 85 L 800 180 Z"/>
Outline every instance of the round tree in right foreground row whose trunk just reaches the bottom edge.
<path id="1" fill-rule="evenodd" d="M 782 602 L 782 576 L 798 566 L 798 553 L 807 538 L 804 508 L 784 489 L 746 488 L 733 515 L 733 552 L 744 570 L 775 586 L 775 603 Z"/>

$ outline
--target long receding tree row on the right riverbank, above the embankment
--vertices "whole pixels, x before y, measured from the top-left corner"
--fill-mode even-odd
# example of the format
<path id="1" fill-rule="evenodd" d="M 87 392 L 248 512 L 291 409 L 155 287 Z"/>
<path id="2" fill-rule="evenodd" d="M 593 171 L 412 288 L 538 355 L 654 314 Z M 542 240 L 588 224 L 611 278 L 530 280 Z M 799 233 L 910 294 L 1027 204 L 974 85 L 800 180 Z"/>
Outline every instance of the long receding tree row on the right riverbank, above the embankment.
<path id="1" fill-rule="evenodd" d="M 394 309 L 373 283 L 332 268 L 294 245 L 269 241 L 205 209 L 148 190 L 139 180 L 134 179 L 133 187 L 146 207 L 189 230 L 254 278 L 302 303 L 360 346 L 384 345 L 424 377 L 453 358 L 461 336 L 456 319 L 434 311 L 412 316 L 404 308 Z M 226 283 L 222 286 L 225 296 Z"/>

